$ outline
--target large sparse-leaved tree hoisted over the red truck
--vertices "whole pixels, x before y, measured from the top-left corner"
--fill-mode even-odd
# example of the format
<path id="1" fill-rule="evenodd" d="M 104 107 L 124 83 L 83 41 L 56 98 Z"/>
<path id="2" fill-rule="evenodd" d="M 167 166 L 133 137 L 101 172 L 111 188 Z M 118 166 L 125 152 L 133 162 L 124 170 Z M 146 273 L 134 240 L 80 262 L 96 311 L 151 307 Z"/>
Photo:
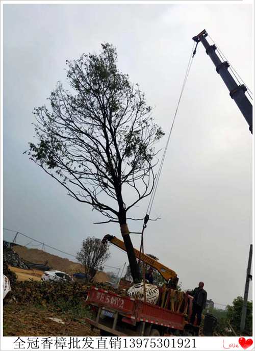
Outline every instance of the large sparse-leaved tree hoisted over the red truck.
<path id="1" fill-rule="evenodd" d="M 38 141 L 30 143 L 29 154 L 71 197 L 106 216 L 105 222 L 120 224 L 132 277 L 139 281 L 127 212 L 152 191 L 154 145 L 164 133 L 138 85 L 118 71 L 116 49 L 101 46 L 99 55 L 66 61 L 70 90 L 58 83 L 50 107 L 35 108 Z"/>

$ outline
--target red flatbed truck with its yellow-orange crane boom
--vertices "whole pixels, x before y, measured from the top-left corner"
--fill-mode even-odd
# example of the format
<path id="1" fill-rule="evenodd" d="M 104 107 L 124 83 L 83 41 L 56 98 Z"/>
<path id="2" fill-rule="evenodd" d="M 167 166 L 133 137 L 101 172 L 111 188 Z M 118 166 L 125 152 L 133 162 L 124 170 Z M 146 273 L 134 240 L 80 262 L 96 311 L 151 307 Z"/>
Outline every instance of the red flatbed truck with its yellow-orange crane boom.
<path id="1" fill-rule="evenodd" d="M 125 244 L 112 235 L 106 235 L 103 243 L 109 241 L 126 251 Z M 192 313 L 193 296 L 176 290 L 177 274 L 159 261 L 134 249 L 137 259 L 141 259 L 156 269 L 166 284 L 158 287 L 157 305 L 132 298 L 113 291 L 91 287 L 87 295 L 92 317 L 86 321 L 92 328 L 100 330 L 104 336 L 198 336 L 199 327 L 189 323 Z"/>

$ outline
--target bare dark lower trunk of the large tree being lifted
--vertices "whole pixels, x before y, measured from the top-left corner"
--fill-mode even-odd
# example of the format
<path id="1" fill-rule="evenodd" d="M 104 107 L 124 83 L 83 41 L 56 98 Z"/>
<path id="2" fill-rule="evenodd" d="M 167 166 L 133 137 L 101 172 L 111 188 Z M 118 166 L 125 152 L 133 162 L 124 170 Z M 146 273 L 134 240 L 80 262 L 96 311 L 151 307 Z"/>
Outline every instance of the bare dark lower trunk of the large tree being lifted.
<path id="1" fill-rule="evenodd" d="M 142 277 L 139 271 L 139 266 L 136 260 L 134 247 L 129 235 L 129 228 L 126 224 L 125 214 L 124 216 L 119 217 L 120 231 L 123 237 L 123 241 L 126 247 L 127 258 L 129 259 L 131 275 L 134 283 L 140 283 L 142 281 Z"/>

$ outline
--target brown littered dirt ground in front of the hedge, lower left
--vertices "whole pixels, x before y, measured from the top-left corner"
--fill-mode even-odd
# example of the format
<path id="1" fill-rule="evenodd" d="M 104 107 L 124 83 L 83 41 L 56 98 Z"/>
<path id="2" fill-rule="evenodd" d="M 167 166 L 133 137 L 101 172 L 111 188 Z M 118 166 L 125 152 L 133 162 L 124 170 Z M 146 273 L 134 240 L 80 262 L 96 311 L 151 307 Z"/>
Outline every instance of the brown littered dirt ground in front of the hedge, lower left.
<path id="1" fill-rule="evenodd" d="M 64 324 L 50 320 L 61 319 Z M 4 306 L 4 336 L 97 336 L 99 331 L 85 322 L 85 318 L 76 319 L 33 305 L 9 303 Z"/>

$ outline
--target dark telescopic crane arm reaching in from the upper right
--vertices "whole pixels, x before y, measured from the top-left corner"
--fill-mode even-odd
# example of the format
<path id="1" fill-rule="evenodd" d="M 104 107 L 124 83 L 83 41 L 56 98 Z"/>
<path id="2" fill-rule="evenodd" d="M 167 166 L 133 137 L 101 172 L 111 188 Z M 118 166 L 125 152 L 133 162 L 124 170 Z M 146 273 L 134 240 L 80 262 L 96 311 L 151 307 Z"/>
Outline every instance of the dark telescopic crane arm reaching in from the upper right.
<path id="1" fill-rule="evenodd" d="M 221 62 L 221 60 L 215 52 L 217 47 L 215 46 L 215 44 L 209 44 L 209 42 L 206 39 L 207 36 L 208 33 L 204 29 L 201 33 L 199 33 L 192 39 L 196 43 L 201 42 L 203 46 L 205 46 L 207 55 L 209 55 L 209 57 L 213 61 L 217 73 L 219 73 L 220 77 L 222 78 L 228 90 L 230 91 L 230 96 L 234 99 L 239 110 L 242 112 L 244 118 L 246 119 L 246 122 L 249 124 L 249 130 L 252 134 L 252 105 L 249 102 L 247 96 L 245 95 L 245 91 L 247 90 L 247 88 L 244 84 L 238 85 L 236 83 L 231 73 L 227 69 L 228 67 L 230 67 L 230 65 L 227 61 Z"/>

